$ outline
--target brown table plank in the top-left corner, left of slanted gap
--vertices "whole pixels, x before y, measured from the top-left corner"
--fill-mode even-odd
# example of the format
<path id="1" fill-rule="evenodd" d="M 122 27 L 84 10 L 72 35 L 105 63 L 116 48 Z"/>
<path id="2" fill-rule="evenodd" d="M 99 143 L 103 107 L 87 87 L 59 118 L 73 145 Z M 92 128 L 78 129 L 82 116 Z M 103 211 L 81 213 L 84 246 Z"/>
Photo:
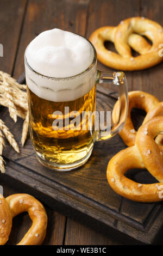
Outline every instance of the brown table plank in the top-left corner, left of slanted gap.
<path id="1" fill-rule="evenodd" d="M 12 73 L 15 62 L 21 26 L 26 12 L 27 0 L 0 1 L 0 43 L 3 45 L 3 57 L 0 57 L 1 70 Z"/>

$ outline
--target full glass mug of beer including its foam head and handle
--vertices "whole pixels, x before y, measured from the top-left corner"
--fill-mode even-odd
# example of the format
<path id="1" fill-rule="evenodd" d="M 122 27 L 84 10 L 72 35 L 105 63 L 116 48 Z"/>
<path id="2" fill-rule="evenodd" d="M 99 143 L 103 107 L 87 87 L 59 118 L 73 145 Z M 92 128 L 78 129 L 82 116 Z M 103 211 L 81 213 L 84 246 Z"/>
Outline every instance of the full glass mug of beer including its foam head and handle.
<path id="1" fill-rule="evenodd" d="M 52 29 L 27 46 L 26 82 L 30 137 L 39 161 L 56 170 L 71 170 L 90 157 L 95 141 L 119 132 L 126 122 L 128 93 L 123 72 L 97 70 L 96 50 L 83 36 Z M 110 112 L 96 111 L 96 85 L 118 90 L 120 113 L 112 124 Z"/>

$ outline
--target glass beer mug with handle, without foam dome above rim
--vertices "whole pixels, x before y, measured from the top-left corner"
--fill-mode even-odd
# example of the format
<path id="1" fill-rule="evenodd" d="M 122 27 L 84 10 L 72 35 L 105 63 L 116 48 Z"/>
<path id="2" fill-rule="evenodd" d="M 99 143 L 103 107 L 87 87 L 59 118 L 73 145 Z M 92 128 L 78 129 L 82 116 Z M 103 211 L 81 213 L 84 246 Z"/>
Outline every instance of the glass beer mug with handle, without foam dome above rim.
<path id="1" fill-rule="evenodd" d="M 124 73 L 97 70 L 95 47 L 83 36 L 73 35 L 78 36 L 78 40 L 85 40 L 84 44 L 92 52 L 90 65 L 79 74 L 67 77 L 45 75 L 43 69 L 42 72 L 40 69 L 37 71 L 30 65 L 30 51 L 27 54 L 30 44 L 24 54 L 30 138 L 37 159 L 43 165 L 59 171 L 82 166 L 89 159 L 96 141 L 109 139 L 121 131 L 128 113 L 128 89 Z M 96 111 L 98 83 L 108 83 L 109 87 L 118 91 L 120 99 L 117 123 L 112 123 L 109 112 L 106 115 L 109 121 L 104 129 L 99 124 L 101 120 L 104 123 L 104 115 L 101 117 L 101 113 Z"/>

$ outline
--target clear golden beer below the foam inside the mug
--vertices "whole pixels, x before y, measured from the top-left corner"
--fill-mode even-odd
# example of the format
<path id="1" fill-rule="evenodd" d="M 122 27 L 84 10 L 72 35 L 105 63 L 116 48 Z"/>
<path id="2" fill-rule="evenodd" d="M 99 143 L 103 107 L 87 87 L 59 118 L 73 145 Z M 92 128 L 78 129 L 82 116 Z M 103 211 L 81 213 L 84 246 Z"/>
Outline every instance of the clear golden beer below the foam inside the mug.
<path id="1" fill-rule="evenodd" d="M 30 136 L 37 156 L 43 163 L 51 166 L 64 166 L 80 161 L 91 154 L 93 143 L 96 139 L 95 119 L 93 119 L 92 129 L 89 127 L 89 117 L 86 119 L 86 129 L 82 126 L 82 113 L 95 111 L 96 107 L 96 86 L 86 95 L 74 101 L 53 102 L 41 99 L 29 88 L 29 116 L 30 116 Z M 66 117 L 64 109 L 69 108 L 69 116 Z M 54 111 L 63 112 L 63 121 L 70 120 L 69 127 L 62 130 L 53 130 Z M 73 111 L 80 114 L 80 124 L 78 127 L 71 127 L 70 113 Z M 59 117 L 58 117 L 59 118 Z M 80 127 L 79 127 L 80 126 Z"/>

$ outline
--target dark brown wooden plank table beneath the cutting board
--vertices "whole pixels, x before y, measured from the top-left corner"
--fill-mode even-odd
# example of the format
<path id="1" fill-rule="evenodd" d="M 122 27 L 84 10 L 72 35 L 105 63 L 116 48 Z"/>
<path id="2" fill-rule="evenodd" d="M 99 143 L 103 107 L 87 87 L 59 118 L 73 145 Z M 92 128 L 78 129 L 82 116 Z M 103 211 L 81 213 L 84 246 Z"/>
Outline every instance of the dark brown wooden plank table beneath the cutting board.
<path id="1" fill-rule="evenodd" d="M 42 31 L 60 28 L 89 38 L 101 26 L 116 26 L 132 16 L 145 16 L 163 25 L 162 0 L 0 0 L 0 43 L 4 53 L 0 70 L 17 78 L 24 71 L 23 56 L 29 42 Z M 163 43 L 163 42 L 162 42 Z M 112 46 L 111 46 L 112 47 Z M 109 70 L 98 63 L 100 70 Z M 129 90 L 144 90 L 163 99 L 162 64 L 148 70 L 126 72 Z M 4 196 L 21 193 L 1 182 Z M 126 245 L 126 240 L 106 237 L 82 222 L 46 207 L 47 236 L 43 245 Z M 14 218 L 8 245 L 16 244 L 30 227 L 28 214 Z M 160 239 L 163 244 L 163 237 Z"/>

